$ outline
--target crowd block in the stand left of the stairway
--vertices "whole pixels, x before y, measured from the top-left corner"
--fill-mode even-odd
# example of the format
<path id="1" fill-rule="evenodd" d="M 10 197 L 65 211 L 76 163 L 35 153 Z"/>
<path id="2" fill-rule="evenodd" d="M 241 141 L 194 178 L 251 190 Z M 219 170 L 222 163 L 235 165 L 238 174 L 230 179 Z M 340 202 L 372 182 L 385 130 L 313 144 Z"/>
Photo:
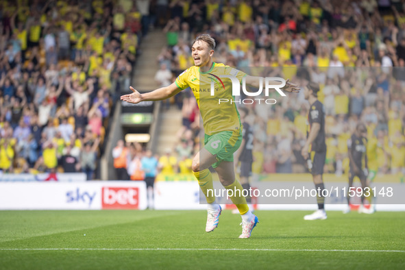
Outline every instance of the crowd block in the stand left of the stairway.
<path id="1" fill-rule="evenodd" d="M 0 2 L 0 170 L 95 177 L 145 3 Z"/>

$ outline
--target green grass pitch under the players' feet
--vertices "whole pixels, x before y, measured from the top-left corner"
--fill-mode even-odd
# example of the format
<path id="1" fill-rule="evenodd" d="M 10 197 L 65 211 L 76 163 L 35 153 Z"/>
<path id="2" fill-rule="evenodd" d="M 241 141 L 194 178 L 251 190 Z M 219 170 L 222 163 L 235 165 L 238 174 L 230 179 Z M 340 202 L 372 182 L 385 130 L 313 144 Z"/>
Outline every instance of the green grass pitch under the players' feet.
<path id="1" fill-rule="evenodd" d="M 0 211 L 0 269 L 405 269 L 404 252 L 365 251 L 405 251 L 405 212 L 307 213 L 257 211 L 239 239 L 228 210 L 209 234 L 205 211 Z"/>

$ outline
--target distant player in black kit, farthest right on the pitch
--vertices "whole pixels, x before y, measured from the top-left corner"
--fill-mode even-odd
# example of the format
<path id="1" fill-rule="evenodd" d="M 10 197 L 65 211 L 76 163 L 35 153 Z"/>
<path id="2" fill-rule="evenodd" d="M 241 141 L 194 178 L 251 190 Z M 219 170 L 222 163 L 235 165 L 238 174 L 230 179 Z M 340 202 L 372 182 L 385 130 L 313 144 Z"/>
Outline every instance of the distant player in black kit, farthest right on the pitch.
<path id="1" fill-rule="evenodd" d="M 353 187 L 354 177 L 360 179 L 361 188 L 361 205 L 358 208 L 358 212 L 366 214 L 372 214 L 374 208 L 371 206 L 369 209 L 363 206 L 365 197 L 372 195 L 372 190 L 367 186 L 367 128 L 363 123 L 358 123 L 356 131 L 352 134 L 352 137 L 347 140 L 347 153 L 349 155 L 349 188 L 347 188 L 347 209 L 343 211 L 347 213 L 350 211 L 350 198 L 357 195 L 358 192 Z M 351 189 L 352 188 L 352 189 Z"/>

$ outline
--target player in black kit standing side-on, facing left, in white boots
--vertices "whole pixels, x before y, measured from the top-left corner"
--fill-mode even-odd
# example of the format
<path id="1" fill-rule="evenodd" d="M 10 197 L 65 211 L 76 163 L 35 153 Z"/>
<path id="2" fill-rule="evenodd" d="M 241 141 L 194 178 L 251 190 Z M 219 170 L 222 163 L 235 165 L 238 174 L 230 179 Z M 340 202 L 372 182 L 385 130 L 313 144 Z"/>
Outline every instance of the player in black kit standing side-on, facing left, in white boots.
<path id="1" fill-rule="evenodd" d="M 323 104 L 318 100 L 319 85 L 310 82 L 304 88 L 304 97 L 310 103 L 308 113 L 308 130 L 307 138 L 301 154 L 308 161 L 308 169 L 312 173 L 315 189 L 317 190 L 318 210 L 312 214 L 307 214 L 305 220 L 326 219 L 327 215 L 324 209 L 325 197 L 323 197 L 323 166 L 326 160 L 326 143 L 325 143 L 325 109 Z M 309 156 L 309 153 L 310 155 Z M 312 168 L 311 168 L 312 167 Z"/>

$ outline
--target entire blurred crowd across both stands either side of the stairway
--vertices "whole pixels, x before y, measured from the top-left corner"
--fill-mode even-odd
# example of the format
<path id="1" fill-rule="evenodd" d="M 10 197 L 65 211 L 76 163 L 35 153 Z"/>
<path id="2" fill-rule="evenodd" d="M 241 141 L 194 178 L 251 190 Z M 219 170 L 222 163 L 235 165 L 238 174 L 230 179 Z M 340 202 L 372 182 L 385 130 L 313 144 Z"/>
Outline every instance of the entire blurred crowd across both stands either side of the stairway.
<path id="1" fill-rule="evenodd" d="M 327 172 L 347 172 L 346 142 L 358 121 L 367 123 L 369 140 L 378 140 L 380 173 L 405 167 L 404 0 L 19 0 L 0 5 L 3 171 L 58 169 L 95 177 L 109 116 L 130 85 L 139 42 L 154 28 L 167 37 L 167 46 L 151 59 L 160 64 L 155 76 L 160 86 L 193 65 L 191 41 L 208 33 L 217 42 L 214 62 L 299 85 L 319 83 Z M 308 102 L 302 93 L 271 98 L 278 100 L 273 106 L 247 106 L 257 132 L 254 174 L 304 172 L 299 153 Z M 200 137 L 197 103 L 184 90 L 163 107 L 180 110 L 183 127 L 174 149 L 156 157 L 160 169 L 190 172 Z M 132 149 L 125 162 L 131 177 L 134 157 L 148 155 L 136 144 L 126 148 Z"/>

